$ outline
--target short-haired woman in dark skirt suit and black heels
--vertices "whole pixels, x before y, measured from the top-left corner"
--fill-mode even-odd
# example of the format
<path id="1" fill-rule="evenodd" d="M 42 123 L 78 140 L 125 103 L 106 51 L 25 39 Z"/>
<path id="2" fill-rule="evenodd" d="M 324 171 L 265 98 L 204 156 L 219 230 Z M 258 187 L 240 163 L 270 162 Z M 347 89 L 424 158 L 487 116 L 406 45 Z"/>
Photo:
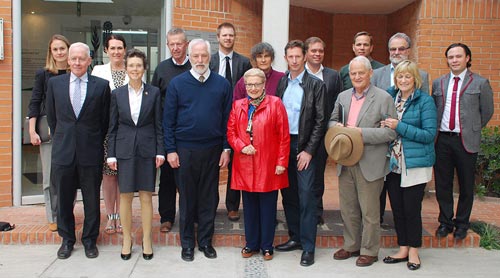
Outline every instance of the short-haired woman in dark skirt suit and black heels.
<path id="1" fill-rule="evenodd" d="M 111 95 L 108 130 L 107 163 L 118 171 L 120 215 L 123 225 L 121 258 L 132 255 L 132 200 L 139 192 L 142 219 L 142 255 L 153 258 L 151 225 L 153 219 L 152 193 L 156 169 L 165 161 L 161 125 L 160 90 L 142 82 L 146 71 L 146 55 L 137 49 L 125 58 L 129 83 Z"/>

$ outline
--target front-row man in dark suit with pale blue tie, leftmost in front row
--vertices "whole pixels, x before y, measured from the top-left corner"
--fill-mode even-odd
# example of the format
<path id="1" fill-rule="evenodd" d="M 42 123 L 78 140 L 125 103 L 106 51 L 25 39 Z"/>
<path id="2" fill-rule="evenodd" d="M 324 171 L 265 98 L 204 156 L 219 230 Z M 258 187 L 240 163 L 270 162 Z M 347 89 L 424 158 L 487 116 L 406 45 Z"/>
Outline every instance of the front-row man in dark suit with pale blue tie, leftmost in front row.
<path id="1" fill-rule="evenodd" d="M 69 258 L 76 242 L 73 207 L 77 188 L 83 195 L 85 255 L 99 255 L 99 187 L 110 89 L 108 81 L 87 74 L 91 62 L 86 44 L 72 44 L 68 55 L 71 73 L 51 78 L 47 88 L 47 120 L 53 135 L 52 181 L 59 196 L 57 230 L 63 239 L 57 251 L 59 259 Z"/>

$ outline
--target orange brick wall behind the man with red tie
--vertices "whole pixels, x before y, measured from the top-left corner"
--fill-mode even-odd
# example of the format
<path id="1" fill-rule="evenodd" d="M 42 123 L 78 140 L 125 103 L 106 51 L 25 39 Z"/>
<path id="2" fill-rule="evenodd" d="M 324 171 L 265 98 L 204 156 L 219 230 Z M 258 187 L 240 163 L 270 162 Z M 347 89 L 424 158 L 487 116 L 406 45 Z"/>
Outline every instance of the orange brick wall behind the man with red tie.
<path id="1" fill-rule="evenodd" d="M 471 70 L 488 78 L 494 92 L 495 114 L 489 125 L 500 124 L 500 1 L 421 0 L 416 39 L 419 65 L 432 79 L 446 74 L 444 51 L 454 42 L 472 51 Z"/>

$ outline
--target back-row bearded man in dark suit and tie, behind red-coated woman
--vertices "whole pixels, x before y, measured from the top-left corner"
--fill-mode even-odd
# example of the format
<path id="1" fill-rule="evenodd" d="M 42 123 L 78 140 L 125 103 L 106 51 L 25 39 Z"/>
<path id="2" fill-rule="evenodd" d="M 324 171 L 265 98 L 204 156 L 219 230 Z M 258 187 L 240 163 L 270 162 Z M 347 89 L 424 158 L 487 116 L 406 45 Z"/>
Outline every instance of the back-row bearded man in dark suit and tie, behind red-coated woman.
<path id="1" fill-rule="evenodd" d="M 219 51 L 214 53 L 210 59 L 210 71 L 225 77 L 231 84 L 231 91 L 243 74 L 252 68 L 252 64 L 247 57 L 233 50 L 235 37 L 236 30 L 233 24 L 229 22 L 220 24 L 217 27 Z M 231 164 L 229 164 L 226 191 L 227 217 L 231 221 L 238 221 L 240 219 L 238 209 L 240 207 L 241 193 L 239 190 L 231 189 L 231 168 Z"/>

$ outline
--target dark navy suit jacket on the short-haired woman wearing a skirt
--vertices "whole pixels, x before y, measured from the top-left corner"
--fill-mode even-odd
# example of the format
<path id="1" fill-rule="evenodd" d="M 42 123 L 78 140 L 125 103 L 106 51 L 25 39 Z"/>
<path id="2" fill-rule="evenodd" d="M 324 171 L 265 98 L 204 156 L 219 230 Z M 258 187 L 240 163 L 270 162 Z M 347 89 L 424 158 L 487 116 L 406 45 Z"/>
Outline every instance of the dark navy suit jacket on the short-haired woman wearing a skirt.
<path id="1" fill-rule="evenodd" d="M 108 157 L 130 159 L 165 155 L 161 125 L 161 95 L 157 87 L 144 84 L 137 125 L 132 120 L 128 86 L 111 94 Z"/>

